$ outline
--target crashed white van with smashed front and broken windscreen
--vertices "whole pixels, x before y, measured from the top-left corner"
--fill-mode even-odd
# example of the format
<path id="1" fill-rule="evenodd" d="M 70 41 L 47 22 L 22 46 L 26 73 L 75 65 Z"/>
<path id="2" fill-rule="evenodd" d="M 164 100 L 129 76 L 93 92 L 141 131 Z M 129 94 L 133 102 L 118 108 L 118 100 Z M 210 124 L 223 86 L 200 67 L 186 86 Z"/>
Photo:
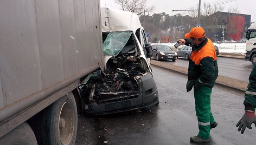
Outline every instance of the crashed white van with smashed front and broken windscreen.
<path id="1" fill-rule="evenodd" d="M 104 69 L 89 74 L 80 87 L 85 113 L 109 114 L 159 103 L 139 17 L 132 12 L 101 8 Z"/>

